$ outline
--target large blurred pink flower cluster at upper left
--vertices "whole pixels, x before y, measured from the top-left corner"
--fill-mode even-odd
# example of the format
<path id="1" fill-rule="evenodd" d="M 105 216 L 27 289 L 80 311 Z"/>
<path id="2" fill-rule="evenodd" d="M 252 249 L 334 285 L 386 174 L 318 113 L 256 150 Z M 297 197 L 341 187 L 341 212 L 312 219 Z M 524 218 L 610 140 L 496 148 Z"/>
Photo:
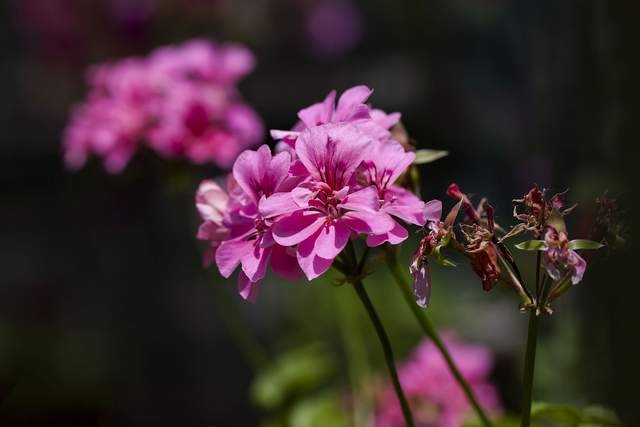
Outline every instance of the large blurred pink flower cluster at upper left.
<path id="1" fill-rule="evenodd" d="M 164 158 L 229 168 L 263 139 L 261 119 L 236 89 L 254 65 L 242 46 L 192 40 L 92 67 L 87 98 L 65 129 L 65 163 L 78 169 L 97 155 L 119 173 L 144 145 Z"/>

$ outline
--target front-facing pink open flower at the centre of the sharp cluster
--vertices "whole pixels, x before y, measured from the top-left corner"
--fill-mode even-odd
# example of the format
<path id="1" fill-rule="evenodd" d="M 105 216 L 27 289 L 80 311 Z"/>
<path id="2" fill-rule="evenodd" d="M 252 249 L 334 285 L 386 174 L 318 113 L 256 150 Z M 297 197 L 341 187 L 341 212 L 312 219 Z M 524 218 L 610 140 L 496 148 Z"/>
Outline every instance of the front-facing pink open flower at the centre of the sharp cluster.
<path id="1" fill-rule="evenodd" d="M 355 172 L 373 141 L 355 125 L 326 125 L 300 134 L 296 152 L 309 179 L 279 206 L 291 210 L 274 226 L 274 239 L 298 245 L 300 267 L 309 280 L 326 272 L 351 233 L 383 234 L 394 221 L 380 211 L 374 187 L 360 188 Z"/>

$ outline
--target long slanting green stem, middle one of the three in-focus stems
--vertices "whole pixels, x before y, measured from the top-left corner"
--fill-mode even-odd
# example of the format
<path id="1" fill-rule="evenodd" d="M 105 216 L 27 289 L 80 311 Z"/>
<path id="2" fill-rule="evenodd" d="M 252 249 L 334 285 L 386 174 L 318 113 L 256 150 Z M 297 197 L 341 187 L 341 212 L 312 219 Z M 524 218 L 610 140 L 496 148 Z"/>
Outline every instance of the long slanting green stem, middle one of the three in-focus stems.
<path id="1" fill-rule="evenodd" d="M 478 415 L 478 418 L 480 418 L 480 420 L 482 421 L 482 424 L 485 427 L 491 427 L 492 424 L 491 424 L 491 421 L 489 420 L 489 417 L 480 406 L 480 403 L 478 402 L 478 399 L 473 393 L 473 390 L 471 390 L 469 383 L 467 383 L 467 381 L 464 379 L 464 377 L 460 373 L 460 370 L 458 369 L 455 362 L 453 361 L 451 354 L 449 354 L 449 350 L 447 350 L 447 347 L 442 342 L 442 339 L 438 335 L 438 332 L 436 331 L 436 329 L 431 324 L 431 321 L 427 317 L 427 314 L 423 310 L 421 310 L 420 307 L 418 307 L 418 305 L 416 304 L 415 298 L 410 289 L 409 282 L 406 280 L 405 275 L 402 272 L 402 269 L 400 268 L 400 264 L 398 263 L 398 257 L 396 256 L 396 252 L 394 248 L 387 247 L 387 260 L 388 260 L 387 264 L 389 265 L 391 274 L 393 275 L 398 287 L 400 288 L 400 291 L 402 292 L 402 296 L 404 297 L 405 302 L 407 303 L 407 305 L 411 309 L 411 312 L 413 313 L 416 320 L 422 327 L 422 330 L 433 341 L 433 343 L 436 345 L 436 347 L 442 354 L 442 357 L 447 363 L 447 366 L 449 367 L 451 374 L 458 382 L 458 385 L 462 387 L 462 390 L 464 391 L 464 394 L 467 397 L 467 400 L 469 401 L 471 406 L 473 406 L 473 409 Z"/>

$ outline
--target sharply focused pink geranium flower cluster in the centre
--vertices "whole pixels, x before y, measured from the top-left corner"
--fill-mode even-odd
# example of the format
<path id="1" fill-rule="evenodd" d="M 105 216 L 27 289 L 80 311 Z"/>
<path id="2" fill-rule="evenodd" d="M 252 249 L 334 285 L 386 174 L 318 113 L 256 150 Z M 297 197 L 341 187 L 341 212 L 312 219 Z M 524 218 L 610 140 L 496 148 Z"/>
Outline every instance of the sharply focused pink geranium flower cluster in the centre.
<path id="1" fill-rule="evenodd" d="M 350 239 L 369 246 L 408 237 L 398 222 L 424 226 L 426 205 L 395 184 L 415 159 L 391 139 L 400 119 L 366 102 L 372 91 L 356 86 L 336 102 L 298 112 L 291 131 L 272 131 L 268 146 L 244 151 L 227 178 L 200 186 L 196 204 L 203 219 L 198 238 L 208 240 L 205 263 L 224 277 L 241 266 L 239 292 L 253 299 L 270 265 L 276 274 L 312 280 L 325 273 Z"/>

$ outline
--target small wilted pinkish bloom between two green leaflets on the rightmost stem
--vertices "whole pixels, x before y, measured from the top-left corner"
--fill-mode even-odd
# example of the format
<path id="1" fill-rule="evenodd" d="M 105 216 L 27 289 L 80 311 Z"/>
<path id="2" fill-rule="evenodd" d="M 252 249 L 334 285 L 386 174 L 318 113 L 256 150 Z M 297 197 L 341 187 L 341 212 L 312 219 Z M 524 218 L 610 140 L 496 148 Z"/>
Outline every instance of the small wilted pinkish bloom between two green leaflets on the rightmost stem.
<path id="1" fill-rule="evenodd" d="M 587 262 L 576 251 L 569 248 L 569 238 L 564 231 L 547 227 L 544 236 L 547 248 L 542 253 L 542 262 L 553 280 L 571 278 L 574 285 L 582 281 Z"/>

